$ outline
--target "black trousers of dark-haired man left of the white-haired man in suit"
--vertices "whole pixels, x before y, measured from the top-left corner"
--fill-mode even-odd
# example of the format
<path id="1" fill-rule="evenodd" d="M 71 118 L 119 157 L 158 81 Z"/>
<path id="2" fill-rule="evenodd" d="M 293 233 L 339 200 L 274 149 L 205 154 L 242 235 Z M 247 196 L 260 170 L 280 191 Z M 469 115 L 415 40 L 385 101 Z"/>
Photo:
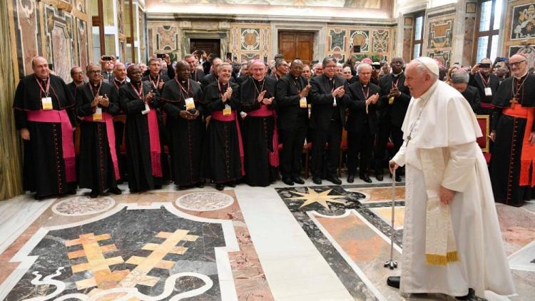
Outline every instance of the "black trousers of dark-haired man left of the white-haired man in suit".
<path id="1" fill-rule="evenodd" d="M 312 141 L 312 176 L 323 178 L 337 177 L 338 160 L 340 159 L 340 141 L 342 141 L 342 122 L 331 120 L 329 129 L 314 130 Z M 325 143 L 328 147 L 325 148 Z M 325 152 L 325 156 L 324 156 Z"/>

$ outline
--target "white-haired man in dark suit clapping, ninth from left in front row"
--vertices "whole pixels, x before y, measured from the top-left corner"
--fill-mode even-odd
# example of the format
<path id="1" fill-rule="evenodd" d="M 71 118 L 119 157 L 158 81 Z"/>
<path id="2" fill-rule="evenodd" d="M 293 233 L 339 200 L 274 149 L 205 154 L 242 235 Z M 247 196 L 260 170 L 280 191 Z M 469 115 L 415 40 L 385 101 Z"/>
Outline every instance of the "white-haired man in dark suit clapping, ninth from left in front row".
<path id="1" fill-rule="evenodd" d="M 352 183 L 357 170 L 357 154 L 360 153 L 359 178 L 372 183 L 368 170 L 372 160 L 372 147 L 377 133 L 377 101 L 379 86 L 370 82 L 372 66 L 361 63 L 357 68 L 359 81 L 347 86 L 347 182 Z"/>

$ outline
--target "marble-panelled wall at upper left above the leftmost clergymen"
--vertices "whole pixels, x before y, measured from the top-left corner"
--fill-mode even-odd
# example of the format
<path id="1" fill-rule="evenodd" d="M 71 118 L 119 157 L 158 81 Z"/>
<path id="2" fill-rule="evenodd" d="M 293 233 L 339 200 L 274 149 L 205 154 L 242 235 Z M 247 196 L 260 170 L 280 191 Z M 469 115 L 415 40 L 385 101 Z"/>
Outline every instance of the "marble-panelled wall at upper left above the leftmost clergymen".
<path id="1" fill-rule="evenodd" d="M 86 67 L 91 44 L 86 0 L 9 0 L 7 6 L 17 79 L 32 73 L 34 56 L 47 58 L 66 81 L 72 66 Z"/>

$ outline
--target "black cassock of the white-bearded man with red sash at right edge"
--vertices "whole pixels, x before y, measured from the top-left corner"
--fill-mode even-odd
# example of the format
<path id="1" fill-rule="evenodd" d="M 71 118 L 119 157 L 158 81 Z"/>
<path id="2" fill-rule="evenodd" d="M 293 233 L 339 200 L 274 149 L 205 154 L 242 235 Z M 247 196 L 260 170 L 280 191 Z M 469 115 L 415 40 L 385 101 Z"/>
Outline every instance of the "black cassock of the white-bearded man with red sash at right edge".
<path id="1" fill-rule="evenodd" d="M 526 76 L 520 80 L 514 77 L 506 78 L 501 83 L 494 96 L 495 109 L 491 127 L 496 131 L 490 164 L 494 200 L 517 207 L 523 205 L 524 200 L 531 199 L 531 187 L 519 185 L 520 157 L 527 119 L 509 116 L 502 111 L 511 107 L 509 101 L 517 91 L 516 99 L 519 103 L 515 106 L 535 106 L 535 75 Z M 526 81 L 521 85 L 524 78 Z M 535 127 L 531 131 L 535 131 Z"/>

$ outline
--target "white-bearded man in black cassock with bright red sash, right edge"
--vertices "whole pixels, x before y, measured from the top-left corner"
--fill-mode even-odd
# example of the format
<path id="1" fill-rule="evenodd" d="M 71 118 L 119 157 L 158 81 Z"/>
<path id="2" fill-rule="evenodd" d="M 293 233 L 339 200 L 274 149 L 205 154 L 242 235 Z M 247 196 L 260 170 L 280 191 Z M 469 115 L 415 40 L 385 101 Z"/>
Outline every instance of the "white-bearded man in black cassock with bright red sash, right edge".
<path id="1" fill-rule="evenodd" d="M 490 175 L 496 202 L 520 207 L 535 185 L 535 75 L 524 54 L 511 56 L 509 68 L 494 96 Z"/>

